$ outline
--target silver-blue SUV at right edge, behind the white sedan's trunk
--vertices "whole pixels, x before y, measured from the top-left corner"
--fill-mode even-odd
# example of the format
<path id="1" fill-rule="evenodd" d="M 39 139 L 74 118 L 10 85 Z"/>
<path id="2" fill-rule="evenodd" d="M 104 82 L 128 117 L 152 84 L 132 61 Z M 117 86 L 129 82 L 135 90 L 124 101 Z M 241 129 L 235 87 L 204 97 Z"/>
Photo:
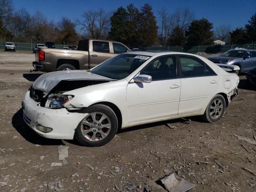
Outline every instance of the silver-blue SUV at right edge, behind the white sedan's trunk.
<path id="1" fill-rule="evenodd" d="M 240 72 L 248 72 L 256 67 L 256 50 L 248 49 L 231 49 L 220 56 L 208 58 L 214 63 L 237 65 L 240 67 Z"/>

